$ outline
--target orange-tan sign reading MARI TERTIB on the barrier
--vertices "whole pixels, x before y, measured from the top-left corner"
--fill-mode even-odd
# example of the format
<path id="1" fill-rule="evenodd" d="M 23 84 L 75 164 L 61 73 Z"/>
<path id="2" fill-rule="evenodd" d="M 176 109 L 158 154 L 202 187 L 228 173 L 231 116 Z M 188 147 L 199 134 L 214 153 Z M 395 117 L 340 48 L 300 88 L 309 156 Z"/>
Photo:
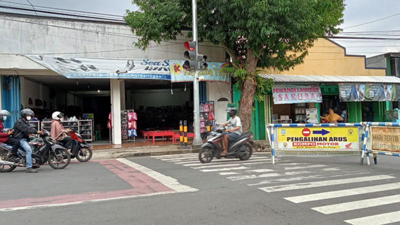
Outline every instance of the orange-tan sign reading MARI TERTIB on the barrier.
<path id="1" fill-rule="evenodd" d="M 400 127 L 372 126 L 372 149 L 400 152 Z"/>

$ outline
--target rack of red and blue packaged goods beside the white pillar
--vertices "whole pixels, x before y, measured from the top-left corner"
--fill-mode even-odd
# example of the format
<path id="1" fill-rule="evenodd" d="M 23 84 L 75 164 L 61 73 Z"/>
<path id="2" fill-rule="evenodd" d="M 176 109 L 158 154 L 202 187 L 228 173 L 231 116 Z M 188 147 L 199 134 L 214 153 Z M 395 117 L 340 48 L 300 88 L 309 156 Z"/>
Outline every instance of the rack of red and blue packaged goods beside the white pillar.
<path id="1" fill-rule="evenodd" d="M 133 109 L 121 110 L 121 139 L 122 142 L 136 141 L 137 114 Z"/>

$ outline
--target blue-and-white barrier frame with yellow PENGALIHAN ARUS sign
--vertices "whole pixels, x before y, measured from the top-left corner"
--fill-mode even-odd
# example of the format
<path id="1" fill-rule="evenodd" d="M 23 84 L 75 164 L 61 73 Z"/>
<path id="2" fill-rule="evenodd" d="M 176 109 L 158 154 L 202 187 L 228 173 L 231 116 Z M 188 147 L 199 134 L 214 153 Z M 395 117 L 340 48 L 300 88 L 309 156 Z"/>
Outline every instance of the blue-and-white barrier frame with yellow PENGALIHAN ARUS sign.
<path id="1" fill-rule="evenodd" d="M 326 157 L 363 152 L 362 123 L 269 123 L 266 130 L 273 164 L 275 155 Z"/>

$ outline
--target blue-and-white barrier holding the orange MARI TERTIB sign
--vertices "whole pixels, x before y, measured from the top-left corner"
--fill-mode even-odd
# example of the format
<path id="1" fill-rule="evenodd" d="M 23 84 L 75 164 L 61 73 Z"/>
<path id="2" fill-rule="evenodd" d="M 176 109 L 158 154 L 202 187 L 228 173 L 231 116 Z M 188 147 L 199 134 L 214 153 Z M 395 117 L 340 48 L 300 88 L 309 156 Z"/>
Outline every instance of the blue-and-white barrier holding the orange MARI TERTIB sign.
<path id="1" fill-rule="evenodd" d="M 377 155 L 400 156 L 400 124 L 398 122 L 361 122 L 364 126 L 361 165 L 364 155 L 373 154 L 374 163 L 377 164 Z"/>

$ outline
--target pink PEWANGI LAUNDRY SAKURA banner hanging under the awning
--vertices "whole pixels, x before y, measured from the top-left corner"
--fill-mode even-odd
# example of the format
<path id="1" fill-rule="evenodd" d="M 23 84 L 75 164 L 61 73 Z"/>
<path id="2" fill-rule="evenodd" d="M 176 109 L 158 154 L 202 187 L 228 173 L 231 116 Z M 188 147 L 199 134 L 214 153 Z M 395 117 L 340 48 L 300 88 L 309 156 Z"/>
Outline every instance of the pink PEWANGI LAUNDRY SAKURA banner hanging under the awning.
<path id="1" fill-rule="evenodd" d="M 276 84 L 272 87 L 274 104 L 322 102 L 319 85 Z"/>

